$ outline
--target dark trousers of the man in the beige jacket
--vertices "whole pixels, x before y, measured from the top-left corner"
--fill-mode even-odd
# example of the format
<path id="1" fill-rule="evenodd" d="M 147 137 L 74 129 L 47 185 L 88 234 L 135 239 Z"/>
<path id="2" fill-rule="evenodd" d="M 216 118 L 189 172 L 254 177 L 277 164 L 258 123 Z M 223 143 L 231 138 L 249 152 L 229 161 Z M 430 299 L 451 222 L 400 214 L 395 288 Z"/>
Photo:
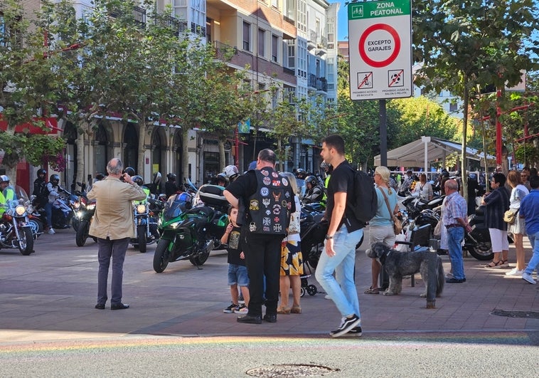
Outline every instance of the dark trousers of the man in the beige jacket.
<path id="1" fill-rule="evenodd" d="M 97 260 L 99 271 L 97 273 L 97 303 L 105 305 L 107 302 L 107 278 L 109 275 L 110 258 L 112 257 L 112 297 L 110 303 L 122 303 L 122 280 L 124 277 L 124 259 L 129 238 L 110 240 L 97 238 Z"/>

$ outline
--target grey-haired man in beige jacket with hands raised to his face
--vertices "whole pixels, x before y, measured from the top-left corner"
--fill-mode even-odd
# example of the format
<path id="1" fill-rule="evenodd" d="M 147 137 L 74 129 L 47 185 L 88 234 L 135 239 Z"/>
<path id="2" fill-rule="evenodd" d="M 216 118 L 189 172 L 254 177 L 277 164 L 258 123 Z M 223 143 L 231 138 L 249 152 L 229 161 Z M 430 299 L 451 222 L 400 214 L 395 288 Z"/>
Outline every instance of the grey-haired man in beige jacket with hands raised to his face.
<path id="1" fill-rule="evenodd" d="M 107 164 L 109 175 L 95 182 L 88 192 L 88 199 L 95 199 L 95 214 L 90 226 L 90 235 L 97 238 L 99 251 L 99 273 L 97 273 L 98 310 L 105 309 L 107 302 L 107 278 L 112 257 L 111 310 L 123 310 L 129 305 L 122 303 L 122 278 L 124 258 L 129 238 L 134 238 L 134 216 L 132 201 L 146 199 L 146 193 L 133 182 L 129 174 L 122 174 L 124 165 L 120 159 L 111 159 Z M 123 178 L 124 182 L 120 180 Z"/>

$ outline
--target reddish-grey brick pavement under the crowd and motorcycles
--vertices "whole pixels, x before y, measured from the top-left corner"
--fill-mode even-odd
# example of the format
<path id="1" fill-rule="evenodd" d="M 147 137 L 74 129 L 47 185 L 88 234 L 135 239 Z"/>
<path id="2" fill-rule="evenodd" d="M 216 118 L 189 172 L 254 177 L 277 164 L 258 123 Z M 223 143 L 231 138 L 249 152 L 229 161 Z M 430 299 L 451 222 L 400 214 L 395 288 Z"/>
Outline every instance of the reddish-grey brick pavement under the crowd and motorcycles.
<path id="1" fill-rule="evenodd" d="M 366 239 L 366 238 L 365 238 Z M 527 242 L 527 239 L 525 239 Z M 327 335 L 340 315 L 324 293 L 301 298 L 301 315 L 279 315 L 275 324 L 243 325 L 223 313 L 230 302 L 226 256 L 214 251 L 198 270 L 188 261 L 170 263 L 157 274 L 155 246 L 147 253 L 129 248 L 124 265 L 124 302 L 129 310 L 95 310 L 97 245 L 75 246 L 73 230 L 43 235 L 36 253 L 0 250 L 0 342 L 82 339 L 114 335 Z M 436 308 L 427 310 L 420 275 L 415 288 L 405 280 L 401 295 L 368 295 L 370 260 L 366 245 L 357 253 L 356 283 L 365 334 L 384 332 L 528 332 L 539 330 L 539 285 L 507 277 L 507 269 L 486 269 L 464 259 L 466 283 L 446 284 Z M 526 245 L 526 259 L 530 246 Z M 509 261 L 514 248 L 510 247 Z M 442 256 L 445 271 L 449 259 Z M 321 290 L 313 277 L 309 283 Z M 493 310 L 521 311 L 528 317 L 496 316 Z M 510 332 L 509 332 L 510 333 Z"/>

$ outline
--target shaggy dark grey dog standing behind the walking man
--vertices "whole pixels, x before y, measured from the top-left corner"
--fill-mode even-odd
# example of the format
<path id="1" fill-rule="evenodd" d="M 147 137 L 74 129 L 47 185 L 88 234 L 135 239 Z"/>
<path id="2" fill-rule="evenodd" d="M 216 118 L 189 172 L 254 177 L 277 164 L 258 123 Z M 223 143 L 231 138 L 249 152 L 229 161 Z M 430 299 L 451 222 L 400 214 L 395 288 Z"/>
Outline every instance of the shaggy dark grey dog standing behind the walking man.
<path id="1" fill-rule="evenodd" d="M 427 282 L 429 278 L 429 251 L 399 252 L 389 248 L 384 243 L 373 243 L 370 249 L 365 251 L 368 257 L 375 258 L 385 266 L 385 271 L 389 275 L 389 288 L 384 295 L 397 295 L 402 291 L 402 277 L 420 272 L 423 283 L 425 283 L 425 293 L 422 298 L 427 297 Z M 444 267 L 442 259 L 436 256 L 436 296 L 439 297 L 444 290 Z"/>

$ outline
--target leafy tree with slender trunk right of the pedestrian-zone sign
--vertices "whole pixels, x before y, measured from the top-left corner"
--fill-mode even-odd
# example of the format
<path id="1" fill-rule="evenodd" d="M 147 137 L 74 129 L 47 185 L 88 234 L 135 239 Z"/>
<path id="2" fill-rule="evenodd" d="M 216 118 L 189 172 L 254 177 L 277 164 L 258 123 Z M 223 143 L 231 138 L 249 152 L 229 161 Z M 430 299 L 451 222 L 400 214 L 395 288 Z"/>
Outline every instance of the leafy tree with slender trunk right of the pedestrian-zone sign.
<path id="1" fill-rule="evenodd" d="M 415 83 L 437 93 L 450 89 L 462 98 L 465 168 L 470 93 L 478 85 L 511 87 L 520 82 L 523 70 L 535 67 L 530 53 L 538 51 L 531 38 L 537 8 L 532 0 L 427 0 L 415 1 L 414 8 L 414 60 L 423 64 Z M 462 174 L 466 195 L 466 169 Z"/>

